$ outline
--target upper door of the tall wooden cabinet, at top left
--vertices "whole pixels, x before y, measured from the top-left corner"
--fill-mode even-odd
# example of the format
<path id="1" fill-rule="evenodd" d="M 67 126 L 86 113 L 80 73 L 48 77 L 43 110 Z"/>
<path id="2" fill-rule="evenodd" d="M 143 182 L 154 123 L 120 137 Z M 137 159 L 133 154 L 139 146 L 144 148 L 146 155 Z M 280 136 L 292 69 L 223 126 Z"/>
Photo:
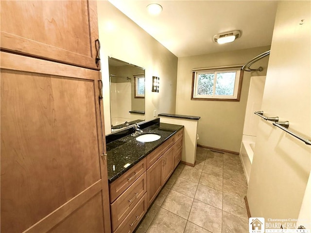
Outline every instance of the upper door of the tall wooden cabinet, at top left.
<path id="1" fill-rule="evenodd" d="M 94 0 L 1 0 L 1 50 L 99 69 Z"/>

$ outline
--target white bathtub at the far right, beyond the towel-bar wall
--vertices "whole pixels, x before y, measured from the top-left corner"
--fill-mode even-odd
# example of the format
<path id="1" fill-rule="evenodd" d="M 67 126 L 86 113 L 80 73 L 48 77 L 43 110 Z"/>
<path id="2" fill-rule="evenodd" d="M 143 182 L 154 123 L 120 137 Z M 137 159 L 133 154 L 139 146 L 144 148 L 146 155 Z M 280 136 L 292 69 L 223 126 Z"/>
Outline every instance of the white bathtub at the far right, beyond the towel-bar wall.
<path id="1" fill-rule="evenodd" d="M 246 177 L 247 184 L 249 182 L 249 176 L 251 174 L 256 137 L 251 138 L 251 139 L 252 140 L 245 140 L 244 138 L 244 140 L 242 140 L 242 145 L 241 145 L 241 150 L 240 150 L 240 157 L 241 157 L 242 166 L 244 169 L 244 174 Z"/>

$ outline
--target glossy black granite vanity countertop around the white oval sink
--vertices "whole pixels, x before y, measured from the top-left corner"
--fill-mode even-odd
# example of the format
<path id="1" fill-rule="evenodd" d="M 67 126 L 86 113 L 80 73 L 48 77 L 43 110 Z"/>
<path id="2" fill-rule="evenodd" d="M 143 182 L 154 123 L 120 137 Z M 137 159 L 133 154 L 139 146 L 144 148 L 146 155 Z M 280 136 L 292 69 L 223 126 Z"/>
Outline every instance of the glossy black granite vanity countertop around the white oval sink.
<path id="1" fill-rule="evenodd" d="M 182 128 L 184 128 L 183 125 L 157 123 L 143 129 L 143 133 L 137 136 L 127 135 L 108 143 L 106 146 L 109 183 L 115 181 Z M 156 133 L 161 135 L 161 138 L 154 142 L 139 142 L 135 139 L 144 133 Z M 130 165 L 125 168 L 126 164 Z"/>

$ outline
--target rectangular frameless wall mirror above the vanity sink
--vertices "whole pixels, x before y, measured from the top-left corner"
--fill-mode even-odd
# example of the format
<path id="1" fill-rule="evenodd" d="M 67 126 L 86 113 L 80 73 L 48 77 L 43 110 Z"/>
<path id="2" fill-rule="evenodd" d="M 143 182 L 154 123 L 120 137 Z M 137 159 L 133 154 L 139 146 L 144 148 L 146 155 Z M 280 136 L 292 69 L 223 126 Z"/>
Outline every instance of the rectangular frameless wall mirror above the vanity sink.
<path id="1" fill-rule="evenodd" d="M 145 120 L 145 70 L 109 57 L 111 132 Z"/>

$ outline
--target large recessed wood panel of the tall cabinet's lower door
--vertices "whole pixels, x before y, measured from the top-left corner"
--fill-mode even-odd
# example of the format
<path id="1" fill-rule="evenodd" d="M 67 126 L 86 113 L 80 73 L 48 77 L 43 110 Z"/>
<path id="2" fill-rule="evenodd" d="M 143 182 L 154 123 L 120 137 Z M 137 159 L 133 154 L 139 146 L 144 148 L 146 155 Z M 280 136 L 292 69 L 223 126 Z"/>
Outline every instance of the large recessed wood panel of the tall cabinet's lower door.
<path id="1" fill-rule="evenodd" d="M 2 86 L 1 209 L 35 223 L 100 180 L 93 82 L 6 71 Z"/>

